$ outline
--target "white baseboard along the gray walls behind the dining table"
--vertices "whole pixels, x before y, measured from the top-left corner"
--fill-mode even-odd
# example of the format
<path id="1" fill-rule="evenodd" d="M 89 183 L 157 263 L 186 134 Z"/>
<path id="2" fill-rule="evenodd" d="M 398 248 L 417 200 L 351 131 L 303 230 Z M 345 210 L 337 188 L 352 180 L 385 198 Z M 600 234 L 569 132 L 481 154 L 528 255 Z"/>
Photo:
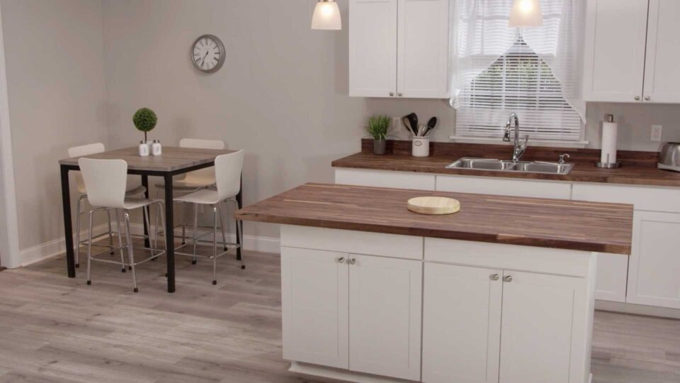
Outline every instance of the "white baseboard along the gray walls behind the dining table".
<path id="1" fill-rule="evenodd" d="M 113 226 L 115 231 L 115 224 Z M 144 231 L 144 226 L 141 223 L 130 224 L 130 230 L 132 234 L 142 235 Z M 107 231 L 106 223 L 96 226 L 93 228 L 94 236 L 103 235 Z M 204 233 L 205 231 L 200 231 Z M 175 230 L 175 235 L 181 235 L 181 230 Z M 187 229 L 186 235 L 191 237 L 191 229 Z M 81 238 L 87 238 L 87 231 L 81 231 Z M 236 242 L 236 235 L 233 233 L 227 234 L 227 240 L 229 242 Z M 74 243 L 76 241 L 75 236 L 73 239 Z M 255 235 L 244 235 L 244 249 L 254 250 L 259 252 L 280 252 L 280 240 L 273 237 L 259 237 Z M 33 247 L 19 251 L 19 258 L 21 262 L 19 266 L 28 266 L 35 262 L 40 262 L 46 260 L 50 257 L 55 257 L 66 251 L 66 241 L 64 238 L 58 238 L 55 240 L 50 240 L 49 242 L 41 243 L 40 245 L 35 245 Z"/>

